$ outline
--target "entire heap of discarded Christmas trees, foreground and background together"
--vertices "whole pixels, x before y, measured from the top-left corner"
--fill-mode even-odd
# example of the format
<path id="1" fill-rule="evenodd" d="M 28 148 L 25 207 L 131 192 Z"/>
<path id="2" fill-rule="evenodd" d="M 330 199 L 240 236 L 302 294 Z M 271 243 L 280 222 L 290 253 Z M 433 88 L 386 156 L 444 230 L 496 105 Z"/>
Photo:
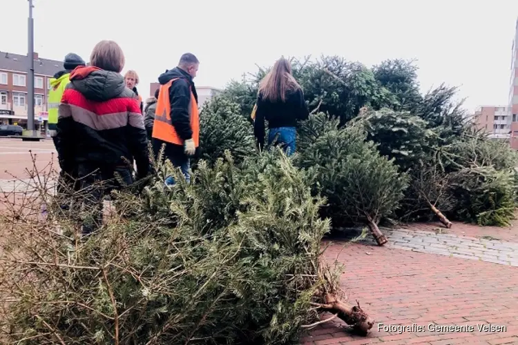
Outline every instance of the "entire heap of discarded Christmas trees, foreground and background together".
<path id="1" fill-rule="evenodd" d="M 288 344 L 323 311 L 365 334 L 372 319 L 345 303 L 343 270 L 322 257 L 330 229 L 365 225 L 384 244 L 384 219 L 513 219 L 517 156 L 473 130 L 454 88 L 421 95 L 412 61 L 293 65 L 316 109 L 296 155 L 256 148 L 260 70 L 202 109 L 191 184 L 156 161 L 155 176 L 113 196 L 115 214 L 86 242 L 59 209 L 45 221 L 23 210 L 2 219 L 5 339 Z M 171 172 L 178 183 L 167 188 Z"/>

